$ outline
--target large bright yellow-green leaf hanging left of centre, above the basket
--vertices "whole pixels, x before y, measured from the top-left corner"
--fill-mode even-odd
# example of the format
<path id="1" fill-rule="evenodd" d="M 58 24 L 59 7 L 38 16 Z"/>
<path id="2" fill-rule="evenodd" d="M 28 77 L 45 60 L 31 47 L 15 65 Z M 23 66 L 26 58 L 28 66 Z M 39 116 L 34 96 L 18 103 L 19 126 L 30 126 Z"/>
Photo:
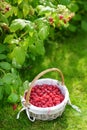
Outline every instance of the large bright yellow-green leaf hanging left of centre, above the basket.
<path id="1" fill-rule="evenodd" d="M 10 54 L 10 58 L 16 62 L 16 64 L 22 65 L 25 61 L 26 51 L 23 47 L 15 47 Z"/>

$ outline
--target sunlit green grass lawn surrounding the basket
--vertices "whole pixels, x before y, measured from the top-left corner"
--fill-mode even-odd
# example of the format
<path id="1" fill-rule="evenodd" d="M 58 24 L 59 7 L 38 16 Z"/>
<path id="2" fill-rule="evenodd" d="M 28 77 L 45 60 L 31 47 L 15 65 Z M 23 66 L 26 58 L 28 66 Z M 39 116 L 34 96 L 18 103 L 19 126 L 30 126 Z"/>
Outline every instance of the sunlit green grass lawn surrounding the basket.
<path id="1" fill-rule="evenodd" d="M 0 130 L 87 130 L 87 34 L 79 34 L 67 38 L 63 43 L 50 42 L 47 45 L 46 56 L 42 62 L 35 63 L 29 71 L 31 77 L 50 67 L 59 68 L 65 77 L 65 84 L 69 90 L 73 104 L 81 109 L 76 112 L 70 106 L 61 117 L 53 121 L 30 122 L 22 112 L 20 119 L 16 120 L 18 108 L 13 111 L 11 105 L 0 106 Z M 61 78 L 56 72 L 46 74 L 45 77 Z M 26 77 L 29 78 L 28 76 Z M 31 79 L 30 79 L 31 80 Z"/>

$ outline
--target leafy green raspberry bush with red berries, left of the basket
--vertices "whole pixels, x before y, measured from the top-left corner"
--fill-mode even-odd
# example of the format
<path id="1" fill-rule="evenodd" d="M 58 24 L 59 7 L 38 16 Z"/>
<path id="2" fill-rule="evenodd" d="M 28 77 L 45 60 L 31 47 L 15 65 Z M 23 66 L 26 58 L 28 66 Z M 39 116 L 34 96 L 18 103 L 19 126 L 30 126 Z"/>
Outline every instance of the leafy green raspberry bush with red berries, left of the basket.
<path id="1" fill-rule="evenodd" d="M 5 95 L 8 102 L 19 101 L 28 83 L 23 84 L 20 70 L 45 55 L 50 32 L 67 28 L 73 16 L 55 0 L 0 1 L 0 100 Z"/>

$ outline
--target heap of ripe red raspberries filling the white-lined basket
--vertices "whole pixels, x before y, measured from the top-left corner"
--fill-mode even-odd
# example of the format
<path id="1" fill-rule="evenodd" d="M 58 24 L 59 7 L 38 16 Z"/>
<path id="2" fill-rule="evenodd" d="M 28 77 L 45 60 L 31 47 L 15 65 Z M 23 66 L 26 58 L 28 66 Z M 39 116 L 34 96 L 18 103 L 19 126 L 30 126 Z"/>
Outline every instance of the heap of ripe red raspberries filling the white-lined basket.
<path id="1" fill-rule="evenodd" d="M 64 95 L 56 85 L 35 85 L 30 94 L 30 103 L 37 107 L 52 107 L 60 104 L 63 100 Z"/>

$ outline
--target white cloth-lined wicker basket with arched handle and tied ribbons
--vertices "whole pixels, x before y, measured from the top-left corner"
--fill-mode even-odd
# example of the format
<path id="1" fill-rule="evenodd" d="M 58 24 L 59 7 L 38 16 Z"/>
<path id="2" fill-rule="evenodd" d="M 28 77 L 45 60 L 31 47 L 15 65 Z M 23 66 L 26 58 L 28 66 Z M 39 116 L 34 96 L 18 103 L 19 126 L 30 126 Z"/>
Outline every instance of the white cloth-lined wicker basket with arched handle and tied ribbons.
<path id="1" fill-rule="evenodd" d="M 50 79 L 50 78 L 39 79 L 41 76 L 43 76 L 44 74 L 51 72 L 51 71 L 57 71 L 61 76 L 62 82 L 59 82 L 58 80 Z M 30 93 L 31 93 L 32 87 L 35 85 L 42 85 L 42 84 L 58 86 L 58 88 L 64 95 L 64 100 L 56 106 L 47 107 L 47 108 L 36 107 L 36 106 L 30 104 L 29 98 L 30 98 Z M 24 96 L 25 96 L 25 93 L 24 93 Z M 35 119 L 39 119 L 39 120 L 56 119 L 57 117 L 62 115 L 67 103 L 70 104 L 73 108 L 78 109 L 76 106 L 71 104 L 70 99 L 69 99 L 68 89 L 64 85 L 64 76 L 63 76 L 62 72 L 57 68 L 50 68 L 50 69 L 44 70 L 41 73 L 39 73 L 34 78 L 34 80 L 29 84 L 29 90 L 27 90 L 26 99 L 24 97 L 22 97 L 21 102 L 22 102 L 22 106 L 23 106 L 21 111 L 26 110 L 26 114 L 27 114 L 29 120 L 31 120 L 31 121 L 35 121 Z M 78 111 L 79 111 L 79 109 L 78 109 Z M 17 119 L 19 118 L 20 112 L 17 115 Z"/>

